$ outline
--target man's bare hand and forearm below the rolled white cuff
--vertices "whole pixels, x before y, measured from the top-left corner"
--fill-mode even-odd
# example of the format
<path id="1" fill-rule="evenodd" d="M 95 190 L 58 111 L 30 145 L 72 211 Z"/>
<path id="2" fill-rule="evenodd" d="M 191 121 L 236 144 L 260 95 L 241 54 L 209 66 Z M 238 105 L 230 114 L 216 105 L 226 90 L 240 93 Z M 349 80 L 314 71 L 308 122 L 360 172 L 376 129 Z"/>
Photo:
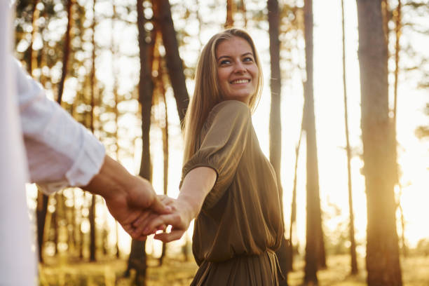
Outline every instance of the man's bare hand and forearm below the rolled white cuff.
<path id="1" fill-rule="evenodd" d="M 100 173 L 83 189 L 102 196 L 111 215 L 137 240 L 145 240 L 146 236 L 135 231 L 133 222 L 149 217 L 152 212 L 168 214 L 171 210 L 161 203 L 147 179 L 131 175 L 109 156 L 104 159 Z"/>

